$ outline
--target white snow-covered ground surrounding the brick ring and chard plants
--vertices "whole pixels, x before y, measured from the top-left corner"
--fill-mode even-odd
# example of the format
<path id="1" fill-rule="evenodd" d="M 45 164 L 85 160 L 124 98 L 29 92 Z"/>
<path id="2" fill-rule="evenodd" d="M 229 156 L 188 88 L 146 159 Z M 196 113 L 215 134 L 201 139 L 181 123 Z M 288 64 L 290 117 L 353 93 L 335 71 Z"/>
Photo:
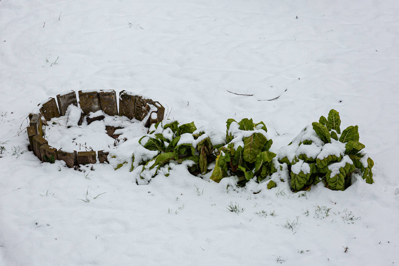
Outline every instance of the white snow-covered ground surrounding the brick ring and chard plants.
<path id="1" fill-rule="evenodd" d="M 0 264 L 398 263 L 398 47 L 389 0 L 1 0 Z M 178 166 L 136 185 L 128 165 L 83 173 L 22 152 L 29 112 L 82 89 L 146 95 L 222 132 L 227 118 L 262 120 L 276 149 L 334 108 L 359 126 L 375 183 L 254 194 L 262 185 Z"/>

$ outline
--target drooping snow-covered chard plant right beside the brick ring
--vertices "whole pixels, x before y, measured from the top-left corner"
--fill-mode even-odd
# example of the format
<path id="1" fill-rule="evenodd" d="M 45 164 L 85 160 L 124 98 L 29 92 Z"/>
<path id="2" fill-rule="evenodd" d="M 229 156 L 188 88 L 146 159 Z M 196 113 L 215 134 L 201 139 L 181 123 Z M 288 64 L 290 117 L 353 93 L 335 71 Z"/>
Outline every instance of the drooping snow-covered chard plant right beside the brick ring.
<path id="1" fill-rule="evenodd" d="M 215 162 L 217 148 L 222 144 L 214 144 L 209 134 L 197 130 L 194 122 L 179 125 L 177 121 L 164 120 L 150 128 L 149 134 L 139 140 L 146 150 L 155 151 L 154 156 L 135 158 L 133 152 L 132 169 L 141 166 L 140 178 L 149 181 L 160 168 L 168 175 L 168 163 L 181 164 L 190 160 L 188 170 L 193 175 L 209 172 L 209 164 Z M 137 151 L 142 154 L 142 152 Z"/>

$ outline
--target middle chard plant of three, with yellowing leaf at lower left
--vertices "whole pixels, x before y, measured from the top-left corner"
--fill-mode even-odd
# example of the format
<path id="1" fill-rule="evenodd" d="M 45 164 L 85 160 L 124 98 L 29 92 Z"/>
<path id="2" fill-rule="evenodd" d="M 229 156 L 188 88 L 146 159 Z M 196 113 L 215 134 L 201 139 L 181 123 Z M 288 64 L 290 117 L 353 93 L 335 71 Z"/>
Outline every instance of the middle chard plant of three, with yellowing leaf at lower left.
<path id="1" fill-rule="evenodd" d="M 210 179 L 219 182 L 236 175 L 239 185 L 245 185 L 253 177 L 260 182 L 277 171 L 277 160 L 273 162 L 276 154 L 269 151 L 273 141 L 267 136 L 265 123 L 244 118 L 240 122 L 228 119 L 226 124 L 227 144 L 219 148 Z"/>

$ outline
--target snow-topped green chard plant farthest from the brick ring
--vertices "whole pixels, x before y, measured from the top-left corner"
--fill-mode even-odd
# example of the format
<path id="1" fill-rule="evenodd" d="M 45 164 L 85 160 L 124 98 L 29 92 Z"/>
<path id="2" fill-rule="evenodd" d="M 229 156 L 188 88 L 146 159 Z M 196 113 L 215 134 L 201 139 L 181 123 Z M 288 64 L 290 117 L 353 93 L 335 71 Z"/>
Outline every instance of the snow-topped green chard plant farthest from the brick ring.
<path id="1" fill-rule="evenodd" d="M 358 126 L 340 129 L 339 113 L 332 109 L 328 117 L 306 126 L 288 147 L 279 152 L 281 163 L 287 163 L 293 191 L 310 189 L 324 182 L 332 190 L 344 190 L 351 185 L 351 175 L 357 172 L 366 183 L 373 183 L 373 160 L 362 150 Z"/>

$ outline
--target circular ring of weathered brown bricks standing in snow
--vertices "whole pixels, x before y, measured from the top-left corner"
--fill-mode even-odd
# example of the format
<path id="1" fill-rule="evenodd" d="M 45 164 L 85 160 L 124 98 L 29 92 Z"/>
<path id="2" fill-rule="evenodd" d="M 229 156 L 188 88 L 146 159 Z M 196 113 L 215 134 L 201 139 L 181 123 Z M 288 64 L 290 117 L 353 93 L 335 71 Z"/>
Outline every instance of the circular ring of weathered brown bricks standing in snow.
<path id="1" fill-rule="evenodd" d="M 95 120 L 102 120 L 104 116 L 93 116 L 99 110 L 110 116 L 126 116 L 130 120 L 135 118 L 149 128 L 151 124 L 158 123 L 164 119 L 165 108 L 156 101 L 143 95 L 137 95 L 129 91 L 119 93 L 119 112 L 117 106 L 117 95 L 114 90 L 85 90 L 79 91 L 79 102 L 75 91 L 65 91 L 57 95 L 57 102 L 54 98 L 38 104 L 32 113 L 29 114 L 29 126 L 27 127 L 29 146 L 28 149 L 42 162 L 54 163 L 55 160 L 63 160 L 68 167 L 79 166 L 80 164 L 95 164 L 97 162 L 96 152 L 77 152 L 75 150 L 56 149 L 51 147 L 43 135 L 43 124 L 47 124 L 52 118 L 64 116 L 67 107 L 71 104 L 79 106 L 82 116 L 78 122 L 80 125 L 83 116 L 87 116 L 90 124 Z M 92 116 L 89 117 L 89 114 Z M 42 121 L 43 120 L 43 121 Z M 43 123 L 44 122 L 44 123 Z M 107 134 L 115 138 L 114 132 L 117 128 L 107 126 Z M 100 150 L 97 152 L 100 163 L 108 162 L 108 152 Z"/>

